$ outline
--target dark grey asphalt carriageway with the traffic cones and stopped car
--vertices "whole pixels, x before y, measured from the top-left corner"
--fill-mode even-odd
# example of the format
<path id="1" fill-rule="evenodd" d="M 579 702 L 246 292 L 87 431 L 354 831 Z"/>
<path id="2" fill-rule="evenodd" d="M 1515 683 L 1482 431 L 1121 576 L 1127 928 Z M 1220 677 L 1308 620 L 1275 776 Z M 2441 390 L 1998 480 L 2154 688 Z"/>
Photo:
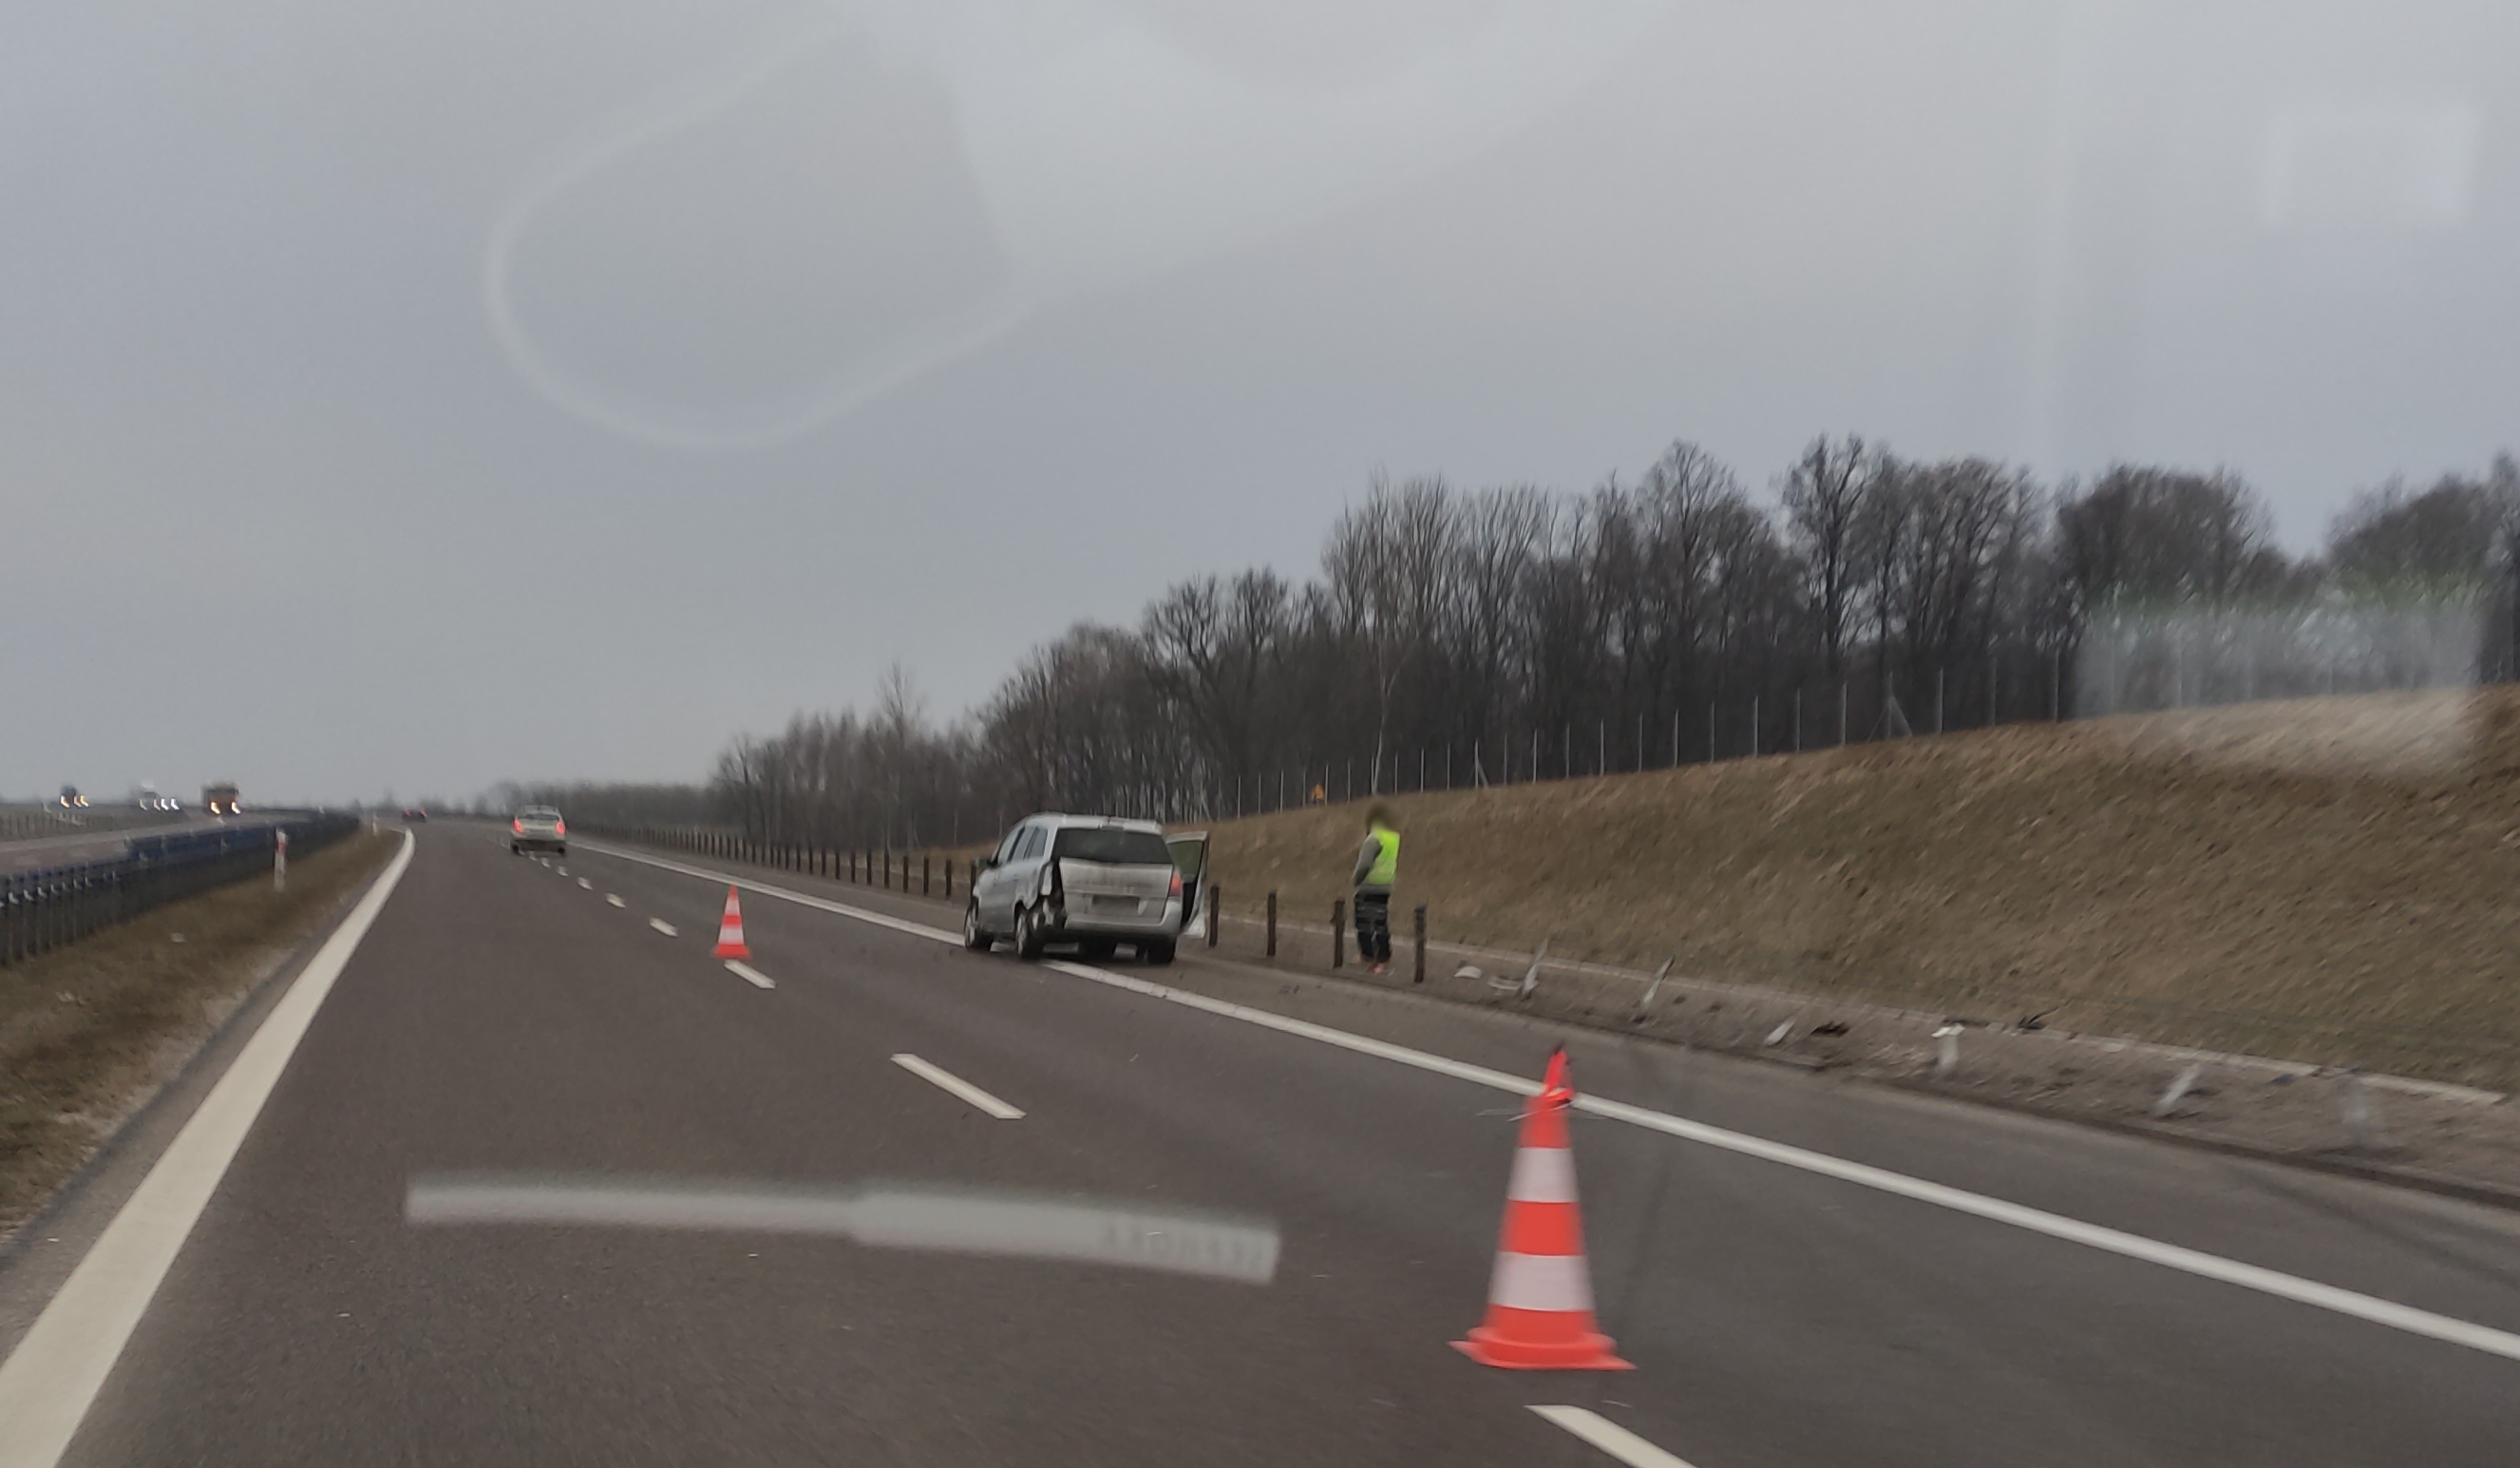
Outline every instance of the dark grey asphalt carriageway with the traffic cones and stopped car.
<path id="1" fill-rule="evenodd" d="M 1696 1468 L 2520 1460 L 2495 1349 L 1600 1115 L 1578 1175 L 1635 1370 L 1484 1370 L 1446 1342 L 1482 1314 L 1520 1102 L 1371 1042 L 1537 1077 L 1565 1039 L 1590 1097 L 2520 1332 L 2502 1213 L 1250 966 L 1099 966 L 1358 1049 L 753 893 L 764 989 L 708 953 L 721 898 L 423 827 L 66 1460 L 1618 1460 L 1532 1407 Z M 479 1170 L 1179 1211 L 1275 1261 L 1041 1259 L 1003 1218 L 995 1254 L 406 1221 L 413 1178 Z"/>

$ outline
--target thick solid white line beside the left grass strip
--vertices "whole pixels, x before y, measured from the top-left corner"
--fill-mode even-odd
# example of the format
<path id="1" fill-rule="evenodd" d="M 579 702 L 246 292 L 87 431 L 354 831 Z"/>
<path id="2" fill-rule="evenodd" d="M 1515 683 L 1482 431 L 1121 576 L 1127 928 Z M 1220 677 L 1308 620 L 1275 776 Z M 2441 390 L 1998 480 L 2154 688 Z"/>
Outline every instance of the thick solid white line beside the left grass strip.
<path id="1" fill-rule="evenodd" d="M 262 1102 L 270 1100 L 272 1085 L 315 1022 L 315 1009 L 350 964 L 358 941 L 368 936 L 375 913 L 386 908 L 393 885 L 403 880 L 411 850 L 413 837 L 406 830 L 403 850 L 315 948 L 290 991 L 272 1004 L 229 1062 L 227 1075 L 209 1087 L 184 1130 L 35 1317 L 35 1327 L 8 1362 L 0 1362 L 0 1468 L 53 1468 L 78 1435 L 78 1423 L 121 1360 L 131 1327 L 146 1314 L 159 1281 L 166 1279 L 194 1221 L 202 1218 L 255 1117 L 262 1115 Z"/>

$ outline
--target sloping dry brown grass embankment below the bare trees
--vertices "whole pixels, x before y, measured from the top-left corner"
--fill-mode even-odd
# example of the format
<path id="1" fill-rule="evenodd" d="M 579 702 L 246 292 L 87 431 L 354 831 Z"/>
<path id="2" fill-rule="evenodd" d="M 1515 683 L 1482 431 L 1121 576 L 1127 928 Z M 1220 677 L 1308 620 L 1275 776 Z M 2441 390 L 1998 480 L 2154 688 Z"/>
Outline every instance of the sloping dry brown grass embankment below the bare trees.
<path id="1" fill-rule="evenodd" d="M 2520 699 L 2311 699 L 1404 795 L 1394 928 L 2520 1085 Z M 1361 805 L 1215 827 L 1326 921 Z"/>

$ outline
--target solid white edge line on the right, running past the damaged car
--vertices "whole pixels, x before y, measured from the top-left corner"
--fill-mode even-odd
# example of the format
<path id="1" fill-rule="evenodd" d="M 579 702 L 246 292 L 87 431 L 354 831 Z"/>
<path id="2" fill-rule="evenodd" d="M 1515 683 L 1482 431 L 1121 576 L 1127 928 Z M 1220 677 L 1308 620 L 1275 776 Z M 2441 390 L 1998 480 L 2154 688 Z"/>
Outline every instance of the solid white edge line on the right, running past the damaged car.
<path id="1" fill-rule="evenodd" d="M 592 845 L 592 842 L 590 842 Z M 930 928 L 925 923 L 905 923 L 887 913 L 869 913 L 864 908 L 852 908 L 847 903 L 834 903 L 827 898 L 811 898 L 806 893 L 791 893 L 786 888 L 771 888 L 764 883 L 751 883 L 746 878 L 731 878 L 726 873 L 713 873 L 703 868 L 688 868 L 663 858 L 648 858 L 617 848 L 597 848 L 622 860 L 645 863 L 663 870 L 685 873 L 693 878 L 706 878 L 711 883 L 733 883 L 738 888 L 764 893 L 771 898 L 786 898 L 791 903 L 804 903 L 809 908 L 822 908 L 827 913 L 842 913 L 847 918 L 859 918 L 879 928 L 892 928 L 897 933 L 912 933 L 917 938 L 932 938 L 937 943 L 960 943 L 963 933 L 950 933 L 945 928 Z M 1331 1029 L 1326 1024 L 1313 1024 L 1305 1019 L 1290 1019 L 1285 1014 L 1273 1014 L 1268 1009 L 1247 1009 L 1242 1004 L 1227 1004 L 1225 999 L 1207 999 L 1205 994 L 1192 994 L 1187 989 L 1167 989 L 1147 979 L 1131 979 L 1129 974 L 1111 974 L 1109 969 L 1091 969 L 1086 964 L 1068 964 L 1061 958 L 1043 958 L 1038 969 L 1056 969 L 1058 974 L 1071 974 L 1076 979 L 1091 979 L 1094 984 L 1109 984 L 1111 989 L 1126 989 L 1131 994 L 1144 994 L 1149 999 L 1164 999 L 1167 1004 L 1182 1004 L 1187 1009 L 1200 1009 L 1205 1014 L 1220 1014 L 1225 1019 L 1240 1019 L 1245 1024 L 1257 1024 L 1263 1029 L 1275 1029 L 1280 1034 L 1300 1034 L 1303 1039 L 1318 1039 L 1320 1044 L 1336 1044 L 1341 1049 L 1353 1049 L 1356 1054 L 1371 1054 L 1376 1059 L 1391 1059 L 1434 1075 L 1449 1075 L 1454 1080 L 1467 1080 L 1502 1092 L 1515 1095 L 1540 1095 L 1537 1080 L 1525 1080 L 1520 1075 L 1504 1075 L 1502 1069 L 1487 1069 L 1484 1064 L 1469 1064 L 1459 1059 L 1446 1059 L 1441 1054 L 1426 1054 L 1424 1049 L 1409 1049 L 1406 1044 L 1391 1044 L 1386 1039 L 1368 1039 L 1363 1034 L 1348 1034 L 1346 1029 Z M 1731 1133 L 1724 1127 L 1711 1127 L 1706 1122 L 1691 1122 L 1686 1117 L 1673 1117 L 1658 1110 L 1603 1100 L 1595 1095 L 1578 1095 L 1575 1110 L 1593 1112 L 1598 1117 L 1610 1117 L 1635 1127 L 1656 1130 L 1671 1138 L 1683 1138 L 1691 1143 L 1704 1143 L 1709 1148 L 1721 1148 L 1726 1153 L 1739 1153 L 1744 1158 L 1759 1158 L 1764 1163 L 1782 1163 L 1787 1168 L 1799 1168 L 1804 1173 L 1819 1173 L 1822 1178 L 1837 1178 L 1840 1183 L 1855 1183 L 1860 1188 L 1872 1188 L 1880 1193 L 1893 1193 L 1900 1198 L 1913 1198 L 1918 1203 L 1933 1203 L 1938 1208 L 1950 1208 L 1956 1213 L 1968 1213 L 1973 1218 L 1988 1218 L 1993 1223 L 2011 1223 L 2013 1228 L 2026 1228 L 2031 1233 L 2046 1233 L 2049 1238 L 2064 1238 L 2066 1244 L 2082 1244 L 2089 1249 L 2102 1249 L 2107 1254 L 2119 1254 L 2124 1259 L 2139 1259 L 2145 1264 L 2160 1264 L 2162 1269 L 2177 1269 L 2182 1274 L 2195 1274 L 2200 1279 L 2215 1279 L 2223 1284 L 2238 1284 L 2240 1289 L 2255 1289 L 2260 1294 L 2273 1294 L 2278 1299 L 2291 1299 L 2296 1304 L 2308 1304 L 2316 1309 L 2328 1309 L 2354 1319 L 2366 1319 L 2371 1324 L 2384 1324 L 2389 1329 L 2402 1329 L 2407 1334 L 2429 1337 L 2437 1342 L 2477 1349 L 2485 1354 L 2497 1354 L 2520 1362 L 2520 1334 L 2495 1329 L 2487 1324 L 2475 1324 L 2467 1319 L 2454 1319 L 2447 1314 L 2434 1314 L 2429 1309 L 2417 1309 L 2412 1304 L 2397 1304 L 2391 1299 L 2379 1299 L 2371 1294 L 2359 1294 L 2351 1289 L 2339 1289 L 2334 1284 L 2318 1284 L 2316 1279 L 2301 1279 L 2283 1274 L 2278 1269 L 2265 1269 L 2258 1264 L 2240 1264 L 2238 1259 L 2223 1259 L 2220 1254 L 2205 1254 L 2197 1249 L 2185 1249 L 2177 1244 L 2162 1244 L 2160 1238 L 2145 1238 L 2142 1233 L 2127 1233 L 2119 1228 L 2107 1228 L 2102 1223 L 2084 1223 L 2082 1218 L 2066 1218 L 2064 1213 L 2049 1213 L 2044 1208 L 2029 1208 L 2024 1203 L 2006 1203 L 2003 1198 L 1988 1198 L 1983 1193 L 1971 1193 L 1966 1188 L 1948 1188 L 1943 1183 L 1928 1183 L 1923 1178 L 1910 1178 L 1905 1173 L 1893 1173 L 1887 1168 L 1872 1168 L 1867 1163 L 1850 1163 L 1845 1158 L 1832 1158 L 1827 1153 L 1812 1153 L 1807 1148 L 1794 1148 L 1787 1143 L 1772 1143 L 1767 1138 L 1754 1138 L 1746 1133 Z"/>

